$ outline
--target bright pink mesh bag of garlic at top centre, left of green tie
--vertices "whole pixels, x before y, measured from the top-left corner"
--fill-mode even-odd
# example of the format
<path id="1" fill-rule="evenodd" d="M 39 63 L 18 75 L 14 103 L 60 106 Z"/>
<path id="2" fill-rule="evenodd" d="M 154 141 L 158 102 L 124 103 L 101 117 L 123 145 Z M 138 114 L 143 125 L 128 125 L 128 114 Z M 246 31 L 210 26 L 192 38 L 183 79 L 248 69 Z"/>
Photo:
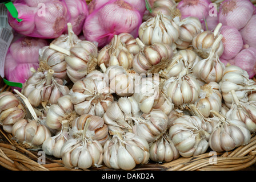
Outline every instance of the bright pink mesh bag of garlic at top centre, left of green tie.
<path id="1" fill-rule="evenodd" d="M 138 10 L 122 0 L 111 0 L 93 11 L 85 20 L 86 40 L 98 42 L 98 47 L 110 43 L 114 35 L 127 32 L 137 38 L 142 16 Z"/>

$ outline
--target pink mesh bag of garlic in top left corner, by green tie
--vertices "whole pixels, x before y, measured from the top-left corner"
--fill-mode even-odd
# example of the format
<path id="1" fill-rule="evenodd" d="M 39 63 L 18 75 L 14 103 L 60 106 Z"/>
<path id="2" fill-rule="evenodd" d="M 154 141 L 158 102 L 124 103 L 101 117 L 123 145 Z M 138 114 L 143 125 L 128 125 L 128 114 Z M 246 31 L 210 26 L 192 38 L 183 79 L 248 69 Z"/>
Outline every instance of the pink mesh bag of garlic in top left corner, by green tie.
<path id="1" fill-rule="evenodd" d="M 52 39 L 60 36 L 67 27 L 70 15 L 67 12 L 65 1 L 47 1 L 43 3 L 45 9 L 30 7 L 25 0 L 17 0 L 14 6 L 18 11 L 18 22 L 8 12 L 8 22 L 10 26 L 19 34 L 35 38 Z M 45 11 L 44 11 L 45 10 Z"/>

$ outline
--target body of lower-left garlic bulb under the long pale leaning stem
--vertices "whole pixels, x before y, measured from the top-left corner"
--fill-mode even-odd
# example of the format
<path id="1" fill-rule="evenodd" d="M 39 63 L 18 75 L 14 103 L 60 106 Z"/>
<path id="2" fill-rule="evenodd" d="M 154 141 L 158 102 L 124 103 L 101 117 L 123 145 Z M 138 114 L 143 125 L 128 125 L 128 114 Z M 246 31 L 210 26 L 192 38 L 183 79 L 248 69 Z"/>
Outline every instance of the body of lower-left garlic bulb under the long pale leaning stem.
<path id="1" fill-rule="evenodd" d="M 50 130 L 45 125 L 26 119 L 20 119 L 13 125 L 12 134 L 19 142 L 32 147 L 41 146 L 47 138 L 51 137 Z"/>

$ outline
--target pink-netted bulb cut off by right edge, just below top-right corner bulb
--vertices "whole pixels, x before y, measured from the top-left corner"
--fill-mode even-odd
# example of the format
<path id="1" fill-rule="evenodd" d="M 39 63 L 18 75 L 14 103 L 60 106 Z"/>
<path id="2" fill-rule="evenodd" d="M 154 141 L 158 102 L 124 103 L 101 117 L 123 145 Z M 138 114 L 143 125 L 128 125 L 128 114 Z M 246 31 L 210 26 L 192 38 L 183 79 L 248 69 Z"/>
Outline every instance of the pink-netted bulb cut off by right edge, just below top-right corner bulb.
<path id="1" fill-rule="evenodd" d="M 243 42 L 256 48 L 256 15 L 253 15 L 247 25 L 240 30 Z"/>

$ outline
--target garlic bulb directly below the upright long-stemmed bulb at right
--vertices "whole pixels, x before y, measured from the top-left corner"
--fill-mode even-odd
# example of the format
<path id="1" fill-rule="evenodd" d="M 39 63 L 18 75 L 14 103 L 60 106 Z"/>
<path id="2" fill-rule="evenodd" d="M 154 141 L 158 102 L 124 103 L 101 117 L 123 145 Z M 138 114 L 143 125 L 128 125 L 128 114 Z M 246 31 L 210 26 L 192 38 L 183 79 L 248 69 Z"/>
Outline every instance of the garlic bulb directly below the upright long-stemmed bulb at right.
<path id="1" fill-rule="evenodd" d="M 210 82 L 201 86 L 201 95 L 195 105 L 206 118 L 210 116 L 210 110 L 221 111 L 222 94 L 219 84 Z"/>

